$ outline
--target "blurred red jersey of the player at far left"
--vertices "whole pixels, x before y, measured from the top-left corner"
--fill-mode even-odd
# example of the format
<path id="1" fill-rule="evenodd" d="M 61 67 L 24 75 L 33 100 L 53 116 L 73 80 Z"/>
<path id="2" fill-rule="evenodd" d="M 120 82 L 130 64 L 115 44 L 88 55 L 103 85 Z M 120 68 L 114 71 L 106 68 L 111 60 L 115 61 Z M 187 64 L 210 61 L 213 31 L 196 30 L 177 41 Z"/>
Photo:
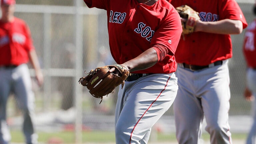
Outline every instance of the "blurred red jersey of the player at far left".
<path id="1" fill-rule="evenodd" d="M 0 21 L 0 66 L 20 65 L 29 61 L 28 52 L 34 49 L 26 23 L 14 18 L 12 22 Z"/>

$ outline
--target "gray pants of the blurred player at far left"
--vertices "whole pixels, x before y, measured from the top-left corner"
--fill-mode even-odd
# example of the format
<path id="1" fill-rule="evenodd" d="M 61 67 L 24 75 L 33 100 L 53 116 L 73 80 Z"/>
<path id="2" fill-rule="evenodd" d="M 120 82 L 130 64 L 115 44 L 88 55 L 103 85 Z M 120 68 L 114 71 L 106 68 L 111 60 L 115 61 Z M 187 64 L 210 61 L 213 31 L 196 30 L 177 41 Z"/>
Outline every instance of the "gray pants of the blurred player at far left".
<path id="1" fill-rule="evenodd" d="M 31 78 L 26 64 L 16 68 L 0 67 L 0 144 L 8 144 L 11 140 L 6 123 L 6 107 L 10 92 L 14 92 L 17 104 L 23 112 L 23 133 L 26 143 L 37 143 L 37 135 L 33 126 L 34 93 L 31 89 Z"/>

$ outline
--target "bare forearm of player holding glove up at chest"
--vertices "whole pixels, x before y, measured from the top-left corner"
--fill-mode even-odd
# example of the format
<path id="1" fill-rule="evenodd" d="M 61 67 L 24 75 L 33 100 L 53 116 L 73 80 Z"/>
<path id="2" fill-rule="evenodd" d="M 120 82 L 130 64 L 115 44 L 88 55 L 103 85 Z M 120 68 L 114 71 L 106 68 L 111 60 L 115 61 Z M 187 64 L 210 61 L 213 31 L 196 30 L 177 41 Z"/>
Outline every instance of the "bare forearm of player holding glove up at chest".
<path id="1" fill-rule="evenodd" d="M 216 22 L 198 21 L 195 31 L 202 31 L 216 34 L 240 34 L 243 24 L 240 20 L 224 19 Z"/>

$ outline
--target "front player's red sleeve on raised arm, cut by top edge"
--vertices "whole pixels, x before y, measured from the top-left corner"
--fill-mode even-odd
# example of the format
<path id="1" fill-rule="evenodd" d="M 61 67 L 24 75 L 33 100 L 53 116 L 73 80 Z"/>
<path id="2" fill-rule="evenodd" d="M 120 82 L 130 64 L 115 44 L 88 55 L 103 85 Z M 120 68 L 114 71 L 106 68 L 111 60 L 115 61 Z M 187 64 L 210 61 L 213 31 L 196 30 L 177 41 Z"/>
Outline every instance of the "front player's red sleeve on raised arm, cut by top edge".
<path id="1" fill-rule="evenodd" d="M 99 8 L 99 9 L 104 9 L 107 10 L 108 4 L 110 0 L 84 0 L 85 4 L 89 8 Z"/>

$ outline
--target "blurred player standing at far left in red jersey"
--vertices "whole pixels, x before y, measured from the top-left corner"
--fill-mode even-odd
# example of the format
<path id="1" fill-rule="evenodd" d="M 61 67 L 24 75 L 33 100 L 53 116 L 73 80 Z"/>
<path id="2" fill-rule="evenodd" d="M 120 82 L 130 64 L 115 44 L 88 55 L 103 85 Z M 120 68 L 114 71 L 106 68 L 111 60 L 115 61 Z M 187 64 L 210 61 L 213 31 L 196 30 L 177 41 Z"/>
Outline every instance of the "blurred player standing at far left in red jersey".
<path id="1" fill-rule="evenodd" d="M 1 0 L 0 19 L 0 144 L 8 144 L 10 133 L 6 123 L 7 99 L 10 92 L 23 112 L 23 133 L 27 144 L 36 144 L 33 125 L 34 94 L 27 62 L 35 69 L 38 83 L 43 83 L 35 48 L 26 23 L 14 17 L 15 0 Z"/>

